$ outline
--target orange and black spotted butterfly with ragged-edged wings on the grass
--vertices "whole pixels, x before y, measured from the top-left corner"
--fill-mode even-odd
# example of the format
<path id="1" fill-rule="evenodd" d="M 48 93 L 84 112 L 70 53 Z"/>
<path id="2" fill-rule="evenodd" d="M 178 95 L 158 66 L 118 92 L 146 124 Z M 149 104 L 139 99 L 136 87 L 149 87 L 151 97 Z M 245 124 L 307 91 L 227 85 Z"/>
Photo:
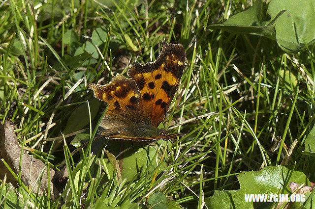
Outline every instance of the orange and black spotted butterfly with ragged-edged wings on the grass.
<path id="1" fill-rule="evenodd" d="M 181 44 L 162 43 L 154 62 L 134 62 L 127 71 L 130 78 L 117 74 L 106 85 L 89 84 L 95 98 L 108 104 L 99 125 L 101 134 L 118 140 L 155 141 L 179 134 L 158 129 L 178 89 L 186 53 Z"/>

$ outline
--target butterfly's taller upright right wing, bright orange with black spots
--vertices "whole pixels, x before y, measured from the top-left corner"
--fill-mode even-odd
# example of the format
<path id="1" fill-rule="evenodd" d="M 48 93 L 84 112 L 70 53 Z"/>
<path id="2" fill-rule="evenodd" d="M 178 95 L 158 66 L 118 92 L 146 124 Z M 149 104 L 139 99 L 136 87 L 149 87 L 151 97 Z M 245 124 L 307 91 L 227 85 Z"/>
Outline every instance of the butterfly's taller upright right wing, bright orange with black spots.
<path id="1" fill-rule="evenodd" d="M 139 89 L 139 110 L 154 127 L 162 122 L 182 78 L 186 54 L 181 44 L 162 43 L 158 59 L 128 70 Z"/>

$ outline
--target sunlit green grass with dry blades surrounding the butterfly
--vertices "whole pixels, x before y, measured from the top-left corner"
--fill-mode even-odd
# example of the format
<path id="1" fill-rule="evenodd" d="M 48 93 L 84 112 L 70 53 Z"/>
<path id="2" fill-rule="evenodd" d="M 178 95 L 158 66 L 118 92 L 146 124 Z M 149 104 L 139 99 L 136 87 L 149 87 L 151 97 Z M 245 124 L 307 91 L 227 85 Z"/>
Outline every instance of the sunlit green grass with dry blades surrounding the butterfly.
<path id="1" fill-rule="evenodd" d="M 148 206 L 148 197 L 159 191 L 183 207 L 202 208 L 203 197 L 214 190 L 238 189 L 241 171 L 281 164 L 295 139 L 286 165 L 314 182 L 312 157 L 301 154 L 314 125 L 313 47 L 288 54 L 263 37 L 207 28 L 249 7 L 245 0 L 132 2 L 0 3 L 0 121 L 10 118 L 16 124 L 31 155 L 56 170 L 65 164 L 69 172 L 61 201 L 27 195 L 21 188 L 22 206 Z M 100 26 L 102 44 L 89 48 Z M 69 30 L 74 35 L 68 36 Z M 88 128 L 93 139 L 105 107 L 93 100 L 87 84 L 126 75 L 132 61 L 154 60 L 162 41 L 181 43 L 187 53 L 181 85 L 163 122 L 185 135 L 140 148 L 145 154 L 138 156 L 137 149 L 124 145 L 126 161 L 146 165 L 134 177 L 122 169 L 128 180 L 113 175 L 119 162 L 102 151 L 106 145 L 117 158 L 122 150 L 115 151 L 111 142 L 98 140 L 98 150 L 89 143 L 81 157 L 71 157 L 74 136 L 61 133 Z M 80 47 L 95 53 L 74 56 Z M 53 137 L 60 139 L 47 140 Z M 13 189 L 7 183 L 1 188 L 2 194 Z M 1 197 L 6 207 L 7 197 Z"/>

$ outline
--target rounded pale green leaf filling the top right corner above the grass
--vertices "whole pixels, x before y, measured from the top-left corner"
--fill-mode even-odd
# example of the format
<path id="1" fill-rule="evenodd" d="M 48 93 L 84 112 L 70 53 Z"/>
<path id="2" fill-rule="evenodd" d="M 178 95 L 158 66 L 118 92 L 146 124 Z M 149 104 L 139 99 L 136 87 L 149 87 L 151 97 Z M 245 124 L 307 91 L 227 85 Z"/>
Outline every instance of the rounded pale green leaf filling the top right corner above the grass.
<path id="1" fill-rule="evenodd" d="M 271 18 L 282 11 L 275 25 L 278 45 L 287 52 L 298 52 L 315 42 L 314 0 L 272 0 L 267 12 Z"/>

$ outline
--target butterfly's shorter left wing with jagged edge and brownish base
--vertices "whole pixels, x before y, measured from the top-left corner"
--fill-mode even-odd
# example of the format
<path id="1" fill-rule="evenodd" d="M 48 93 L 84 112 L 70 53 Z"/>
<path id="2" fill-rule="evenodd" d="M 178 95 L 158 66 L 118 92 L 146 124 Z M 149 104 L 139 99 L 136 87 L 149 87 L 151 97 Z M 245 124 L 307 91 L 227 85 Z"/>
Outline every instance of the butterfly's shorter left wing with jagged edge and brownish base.
<path id="1" fill-rule="evenodd" d="M 134 135 L 139 119 L 139 91 L 135 82 L 117 74 L 106 85 L 89 84 L 95 98 L 108 104 L 100 127 L 107 132 L 119 132 L 118 135 Z"/>

